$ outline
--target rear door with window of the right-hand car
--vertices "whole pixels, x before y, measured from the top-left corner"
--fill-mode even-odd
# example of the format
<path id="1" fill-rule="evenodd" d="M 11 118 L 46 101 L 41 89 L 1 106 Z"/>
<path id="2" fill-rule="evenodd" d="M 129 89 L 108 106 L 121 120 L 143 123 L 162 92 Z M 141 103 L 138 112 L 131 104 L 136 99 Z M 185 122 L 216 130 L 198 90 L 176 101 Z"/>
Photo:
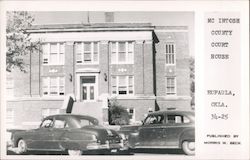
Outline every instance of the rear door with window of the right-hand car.
<path id="1" fill-rule="evenodd" d="M 190 119 L 181 114 L 168 114 L 166 118 L 166 143 L 170 148 L 179 146 L 180 135 L 188 128 Z"/>

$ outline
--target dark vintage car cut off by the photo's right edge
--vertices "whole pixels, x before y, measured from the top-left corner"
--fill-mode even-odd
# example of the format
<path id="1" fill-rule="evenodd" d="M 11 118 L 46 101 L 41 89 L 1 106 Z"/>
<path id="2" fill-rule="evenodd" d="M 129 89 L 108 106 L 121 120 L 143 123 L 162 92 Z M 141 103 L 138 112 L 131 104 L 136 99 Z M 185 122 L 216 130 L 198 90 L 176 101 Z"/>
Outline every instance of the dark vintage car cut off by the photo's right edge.
<path id="1" fill-rule="evenodd" d="M 195 153 L 194 112 L 156 111 L 149 113 L 142 125 L 123 126 L 120 133 L 129 148 L 176 148 L 187 155 Z"/>

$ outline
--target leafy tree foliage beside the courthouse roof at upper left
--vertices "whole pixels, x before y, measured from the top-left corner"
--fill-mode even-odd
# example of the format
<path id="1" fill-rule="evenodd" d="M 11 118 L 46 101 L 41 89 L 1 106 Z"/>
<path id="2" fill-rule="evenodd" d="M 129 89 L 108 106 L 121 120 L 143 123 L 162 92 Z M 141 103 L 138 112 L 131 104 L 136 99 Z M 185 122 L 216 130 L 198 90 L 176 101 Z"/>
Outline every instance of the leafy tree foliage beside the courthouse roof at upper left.
<path id="1" fill-rule="evenodd" d="M 25 11 L 7 12 L 7 53 L 6 71 L 11 72 L 19 68 L 26 72 L 23 56 L 35 51 L 40 51 L 40 41 L 32 42 L 30 34 L 26 32 L 32 26 L 34 18 Z"/>

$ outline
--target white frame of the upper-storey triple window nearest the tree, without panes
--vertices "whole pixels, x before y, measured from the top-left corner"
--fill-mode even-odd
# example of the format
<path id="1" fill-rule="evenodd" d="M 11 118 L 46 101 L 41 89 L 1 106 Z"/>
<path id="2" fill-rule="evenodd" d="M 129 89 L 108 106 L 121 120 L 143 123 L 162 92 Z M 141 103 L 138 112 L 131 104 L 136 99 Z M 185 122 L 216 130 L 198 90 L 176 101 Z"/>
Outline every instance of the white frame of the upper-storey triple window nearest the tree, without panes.
<path id="1" fill-rule="evenodd" d="M 51 52 L 50 52 L 50 49 L 51 49 L 51 44 L 56 44 L 57 45 L 57 60 L 55 63 L 52 63 L 51 62 Z M 63 58 L 62 58 L 62 61 L 60 61 L 60 45 L 63 45 L 64 47 L 64 50 L 63 50 Z M 65 43 L 64 42 L 51 42 L 51 43 L 44 43 L 43 45 L 47 45 L 47 50 L 46 51 L 43 51 L 43 65 L 64 65 L 65 63 Z M 44 63 L 44 59 L 48 59 L 47 60 L 47 63 Z"/>

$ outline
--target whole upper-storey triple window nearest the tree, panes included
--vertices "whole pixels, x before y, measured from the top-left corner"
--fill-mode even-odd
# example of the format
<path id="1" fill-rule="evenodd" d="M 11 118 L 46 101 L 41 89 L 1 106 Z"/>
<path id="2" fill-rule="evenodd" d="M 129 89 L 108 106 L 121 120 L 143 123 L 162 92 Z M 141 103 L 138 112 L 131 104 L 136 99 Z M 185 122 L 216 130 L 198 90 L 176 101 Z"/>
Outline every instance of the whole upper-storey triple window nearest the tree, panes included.
<path id="1" fill-rule="evenodd" d="M 43 64 L 63 65 L 65 55 L 64 43 L 45 43 L 43 44 Z"/>

